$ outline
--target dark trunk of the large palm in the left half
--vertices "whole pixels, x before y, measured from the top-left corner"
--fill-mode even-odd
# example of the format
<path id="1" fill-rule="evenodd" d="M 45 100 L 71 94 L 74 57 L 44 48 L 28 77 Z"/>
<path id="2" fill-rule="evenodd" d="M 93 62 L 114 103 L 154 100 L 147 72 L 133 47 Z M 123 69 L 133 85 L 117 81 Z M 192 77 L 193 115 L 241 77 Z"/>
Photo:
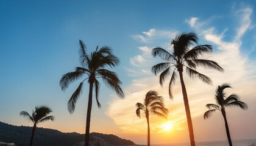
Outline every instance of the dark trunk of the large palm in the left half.
<path id="1" fill-rule="evenodd" d="M 88 107 L 87 107 L 87 118 L 86 118 L 86 128 L 85 128 L 85 146 L 89 146 L 89 134 L 90 134 L 90 121 L 91 121 L 91 105 L 93 103 L 93 83 L 90 83 L 89 97 L 88 97 Z"/>

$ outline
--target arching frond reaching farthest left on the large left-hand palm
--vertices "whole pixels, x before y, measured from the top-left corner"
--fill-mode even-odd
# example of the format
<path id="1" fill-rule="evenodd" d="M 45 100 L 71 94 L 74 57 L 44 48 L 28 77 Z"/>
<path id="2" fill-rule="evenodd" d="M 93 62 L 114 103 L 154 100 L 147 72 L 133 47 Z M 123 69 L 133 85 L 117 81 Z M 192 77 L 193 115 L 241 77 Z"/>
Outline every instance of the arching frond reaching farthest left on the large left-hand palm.
<path id="1" fill-rule="evenodd" d="M 64 75 L 62 75 L 62 78 L 60 79 L 60 87 L 62 88 L 62 91 L 65 91 L 66 88 L 70 85 L 70 83 L 79 80 L 82 75 L 84 75 L 84 72 L 68 72 Z"/>

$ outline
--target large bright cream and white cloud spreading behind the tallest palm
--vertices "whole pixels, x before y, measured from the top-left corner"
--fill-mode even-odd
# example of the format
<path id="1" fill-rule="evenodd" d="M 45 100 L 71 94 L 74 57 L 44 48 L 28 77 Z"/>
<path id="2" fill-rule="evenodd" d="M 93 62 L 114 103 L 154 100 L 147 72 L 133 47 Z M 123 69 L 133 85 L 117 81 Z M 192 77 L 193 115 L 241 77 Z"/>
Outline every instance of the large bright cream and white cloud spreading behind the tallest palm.
<path id="1" fill-rule="evenodd" d="M 241 19 L 241 23 L 236 28 L 236 35 L 231 41 L 224 41 L 226 32 L 228 29 L 218 33 L 215 27 L 205 27 L 204 21 L 198 22 L 199 18 L 191 17 L 186 22 L 195 32 L 205 41 L 213 44 L 216 51 L 207 55 L 204 58 L 217 61 L 222 68 L 225 69 L 225 73 L 222 74 L 218 71 L 199 68 L 199 72 L 208 75 L 213 80 L 213 86 L 204 85 L 201 81 L 191 80 L 185 77 L 185 84 L 187 86 L 187 92 L 190 99 L 191 116 L 198 117 L 203 115 L 206 110 L 205 104 L 214 103 L 214 92 L 217 85 L 222 83 L 230 83 L 233 86 L 234 91 L 240 95 L 242 100 L 246 97 L 249 91 L 252 94 L 256 94 L 253 89 L 255 83 L 255 69 L 251 68 L 251 62 L 241 54 L 241 38 L 252 26 L 251 15 L 252 9 L 250 7 L 244 7 L 243 9 L 236 11 L 237 16 Z M 200 26 L 200 27 L 199 27 Z M 177 34 L 176 30 L 156 30 L 150 29 L 148 32 L 142 32 L 140 35 L 134 35 L 138 41 L 148 43 L 151 40 L 158 39 L 159 37 L 174 38 Z M 137 37 L 140 36 L 140 37 Z M 162 42 L 162 46 L 166 46 L 168 42 Z M 158 45 L 158 44 L 156 44 Z M 127 133 L 146 133 L 146 119 L 142 116 L 141 119 L 135 114 L 135 104 L 137 102 L 143 102 L 146 92 L 151 89 L 155 89 L 165 98 L 166 107 L 168 107 L 169 119 L 174 122 L 174 130 L 184 130 L 184 124 L 186 124 L 185 109 L 183 108 L 183 98 L 180 89 L 180 83 L 177 80 L 176 85 L 173 88 L 174 100 L 168 98 L 168 82 L 165 83 L 163 88 L 158 83 L 158 77 L 155 77 L 151 73 L 151 67 L 159 63 L 160 60 L 151 57 L 151 48 L 148 46 L 138 47 L 141 50 L 141 54 L 136 55 L 130 59 L 130 63 L 133 65 L 133 70 L 129 69 L 129 74 L 133 74 L 136 71 L 146 72 L 146 76 L 137 77 L 132 81 L 132 84 L 126 88 L 126 99 L 117 100 L 114 99 L 108 108 L 107 114 L 110 116 L 124 132 Z M 133 72 L 132 72 L 133 71 Z M 250 105 L 249 105 L 250 106 Z M 232 111 L 231 111 L 232 112 Z M 254 118 L 255 119 L 255 118 Z M 152 133 L 162 132 L 161 125 L 165 122 L 164 119 L 158 119 L 153 116 L 151 118 L 151 130 Z M 186 129 L 187 130 L 187 129 Z"/>

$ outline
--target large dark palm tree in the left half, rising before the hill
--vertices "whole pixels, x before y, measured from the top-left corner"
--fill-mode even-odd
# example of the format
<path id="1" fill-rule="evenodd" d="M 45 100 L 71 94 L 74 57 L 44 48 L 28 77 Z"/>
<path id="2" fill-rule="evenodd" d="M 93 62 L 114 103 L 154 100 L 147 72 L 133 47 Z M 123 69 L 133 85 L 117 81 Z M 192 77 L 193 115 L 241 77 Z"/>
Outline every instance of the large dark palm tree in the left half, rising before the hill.
<path id="1" fill-rule="evenodd" d="M 69 113 L 73 113 L 77 99 L 82 94 L 82 88 L 84 87 L 85 80 L 88 80 L 89 84 L 89 96 L 88 96 L 88 107 L 87 107 L 87 120 L 86 120 L 86 130 L 85 130 L 85 145 L 89 145 L 89 134 L 90 134 L 90 120 L 91 120 L 91 106 L 93 103 L 93 88 L 95 90 L 95 97 L 98 107 L 101 108 L 101 104 L 99 103 L 99 80 L 98 78 L 102 78 L 103 82 L 115 90 L 116 94 L 119 97 L 124 97 L 124 93 L 120 87 L 122 82 L 119 80 L 118 75 L 115 72 L 104 69 L 106 66 L 110 66 L 110 68 L 115 67 L 119 63 L 119 58 L 112 54 L 112 50 L 108 46 L 103 46 L 91 54 L 87 54 L 87 47 L 85 44 L 79 40 L 79 55 L 80 55 L 80 64 L 82 67 L 77 67 L 74 69 L 74 72 L 68 72 L 67 74 L 62 75 L 60 79 L 60 87 L 62 91 L 65 91 L 68 86 L 85 76 L 82 82 L 80 82 L 76 91 L 74 91 L 73 95 L 70 97 L 68 101 L 68 111 Z"/>

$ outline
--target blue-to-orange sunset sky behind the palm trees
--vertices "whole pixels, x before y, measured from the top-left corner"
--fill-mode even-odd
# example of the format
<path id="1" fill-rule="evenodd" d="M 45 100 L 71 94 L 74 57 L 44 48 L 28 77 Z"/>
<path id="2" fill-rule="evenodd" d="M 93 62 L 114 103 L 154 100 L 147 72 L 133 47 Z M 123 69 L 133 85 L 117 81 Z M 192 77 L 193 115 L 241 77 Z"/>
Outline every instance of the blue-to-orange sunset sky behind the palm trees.
<path id="1" fill-rule="evenodd" d="M 136 144 L 146 144 L 147 123 L 135 114 L 135 104 L 146 92 L 157 91 L 169 109 L 168 120 L 151 116 L 151 144 L 188 142 L 188 128 L 179 80 L 168 97 L 151 67 L 162 60 L 151 49 L 171 52 L 171 40 L 180 32 L 196 32 L 199 44 L 211 44 L 225 72 L 199 68 L 213 85 L 187 77 L 195 141 L 226 140 L 220 112 L 204 120 L 207 103 L 215 103 L 216 86 L 229 83 L 249 106 L 247 111 L 227 109 L 232 139 L 256 139 L 256 1 L 0 1 L 0 121 L 32 126 L 19 116 L 37 105 L 52 108 L 54 122 L 38 127 L 85 133 L 88 85 L 69 114 L 67 102 L 78 82 L 61 91 L 59 81 L 79 64 L 79 40 L 88 52 L 110 46 L 121 63 L 112 70 L 123 82 L 125 99 L 101 83 L 99 109 L 93 100 L 91 132 L 116 134 Z M 168 79 L 169 80 L 169 79 Z M 169 130 L 163 125 L 169 124 Z"/>

